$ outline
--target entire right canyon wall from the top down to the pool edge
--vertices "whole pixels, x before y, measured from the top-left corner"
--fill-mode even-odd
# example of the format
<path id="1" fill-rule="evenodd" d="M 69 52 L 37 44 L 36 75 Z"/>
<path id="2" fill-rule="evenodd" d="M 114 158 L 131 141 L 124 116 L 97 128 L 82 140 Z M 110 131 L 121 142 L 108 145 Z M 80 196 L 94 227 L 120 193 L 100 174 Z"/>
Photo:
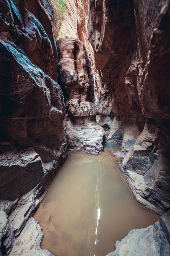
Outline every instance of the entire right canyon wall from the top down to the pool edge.
<path id="1" fill-rule="evenodd" d="M 122 140 L 120 169 L 137 200 L 159 214 L 170 209 L 169 15 L 170 1 L 89 3 L 99 124 Z"/>

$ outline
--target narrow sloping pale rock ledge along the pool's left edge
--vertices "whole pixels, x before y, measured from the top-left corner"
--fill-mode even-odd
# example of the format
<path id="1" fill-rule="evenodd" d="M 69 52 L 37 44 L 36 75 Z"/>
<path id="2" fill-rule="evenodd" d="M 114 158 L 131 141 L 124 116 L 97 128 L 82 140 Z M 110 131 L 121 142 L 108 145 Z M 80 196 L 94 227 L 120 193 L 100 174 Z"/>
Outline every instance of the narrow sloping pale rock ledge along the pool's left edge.
<path id="1" fill-rule="evenodd" d="M 54 151 L 53 157 L 56 154 L 55 159 L 58 159 L 57 161 L 54 161 L 49 159 L 49 156 L 47 156 L 45 159 L 42 155 L 42 151 L 40 151 L 39 148 L 38 151 L 40 152 L 42 160 L 46 160 L 47 162 L 43 163 L 45 172 L 42 183 L 37 185 L 26 195 L 23 195 L 20 199 L 13 202 L 5 200 L 0 201 L 0 206 L 2 209 L 9 213 L 9 228 L 6 236 L 3 239 L 3 250 L 7 254 L 11 251 L 14 245 L 15 237 L 20 235 L 20 232 L 25 227 L 26 221 L 28 221 L 28 219 L 34 215 L 57 170 L 65 162 L 67 157 L 65 154 L 63 154 L 65 150 L 67 150 L 67 145 L 63 145 L 58 152 Z M 50 160 L 51 162 L 48 162 Z"/>

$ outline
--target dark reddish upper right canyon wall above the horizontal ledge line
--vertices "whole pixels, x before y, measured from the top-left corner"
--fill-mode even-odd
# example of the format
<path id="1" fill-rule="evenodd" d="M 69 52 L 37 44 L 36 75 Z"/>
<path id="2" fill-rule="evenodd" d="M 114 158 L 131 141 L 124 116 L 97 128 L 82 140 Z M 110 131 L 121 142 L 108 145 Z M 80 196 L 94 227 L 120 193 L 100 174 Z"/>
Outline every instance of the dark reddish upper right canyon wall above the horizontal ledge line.
<path id="1" fill-rule="evenodd" d="M 170 116 L 169 8 L 169 1 L 134 0 L 133 7 L 132 1 L 90 0 L 88 37 L 105 91 L 99 96 L 111 102 L 110 113 L 142 108 L 147 117 Z"/>

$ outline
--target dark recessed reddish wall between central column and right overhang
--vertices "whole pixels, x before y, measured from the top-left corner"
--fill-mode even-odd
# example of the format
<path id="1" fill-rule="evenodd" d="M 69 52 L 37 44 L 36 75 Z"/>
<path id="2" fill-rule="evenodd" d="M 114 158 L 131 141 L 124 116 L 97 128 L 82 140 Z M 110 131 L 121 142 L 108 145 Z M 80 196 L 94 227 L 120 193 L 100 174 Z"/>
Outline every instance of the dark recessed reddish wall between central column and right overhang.
<path id="1" fill-rule="evenodd" d="M 96 83 L 101 84 L 100 105 L 108 108 L 107 114 L 140 112 L 135 102 L 130 105 L 125 88 L 125 76 L 136 47 L 133 2 L 90 0 L 89 8 L 88 38 L 102 77 L 102 84 L 96 78 Z"/>

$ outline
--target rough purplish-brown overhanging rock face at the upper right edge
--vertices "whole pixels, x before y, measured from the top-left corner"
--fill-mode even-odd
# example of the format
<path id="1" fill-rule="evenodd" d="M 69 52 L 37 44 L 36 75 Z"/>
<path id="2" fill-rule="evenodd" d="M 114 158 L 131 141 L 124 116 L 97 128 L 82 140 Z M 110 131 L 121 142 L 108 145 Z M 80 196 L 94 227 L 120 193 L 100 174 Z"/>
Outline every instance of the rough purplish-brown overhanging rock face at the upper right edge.
<path id="1" fill-rule="evenodd" d="M 147 117 L 167 118 L 170 116 L 169 10 L 169 1 L 150 0 L 147 3 L 134 0 L 138 37 L 135 58 L 137 89 L 142 103 L 142 111 Z M 131 86 L 136 86 L 133 79 L 131 80 Z"/>

